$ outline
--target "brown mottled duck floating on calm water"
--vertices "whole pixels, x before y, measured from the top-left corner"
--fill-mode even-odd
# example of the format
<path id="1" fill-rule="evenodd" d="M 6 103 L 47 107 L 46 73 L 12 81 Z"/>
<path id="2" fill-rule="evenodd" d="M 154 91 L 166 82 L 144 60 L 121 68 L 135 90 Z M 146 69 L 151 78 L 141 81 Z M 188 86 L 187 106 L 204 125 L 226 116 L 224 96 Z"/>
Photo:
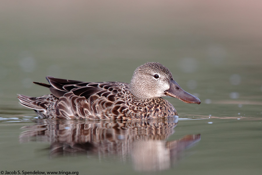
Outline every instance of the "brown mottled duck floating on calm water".
<path id="1" fill-rule="evenodd" d="M 184 91 L 167 67 L 147 62 L 135 69 L 130 83 L 83 82 L 46 77 L 51 94 L 41 97 L 19 95 L 20 104 L 33 109 L 39 118 L 89 120 L 150 120 L 178 117 L 174 106 L 162 97 L 200 104 Z"/>

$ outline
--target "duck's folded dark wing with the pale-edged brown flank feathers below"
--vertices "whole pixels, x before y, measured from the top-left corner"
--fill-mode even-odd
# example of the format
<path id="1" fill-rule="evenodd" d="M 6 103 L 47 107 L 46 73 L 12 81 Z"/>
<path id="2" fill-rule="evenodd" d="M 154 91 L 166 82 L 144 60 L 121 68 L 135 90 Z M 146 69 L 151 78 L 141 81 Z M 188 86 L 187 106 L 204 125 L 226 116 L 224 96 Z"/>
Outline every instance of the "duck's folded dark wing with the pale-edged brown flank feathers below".
<path id="1" fill-rule="evenodd" d="M 62 119 L 89 118 L 110 119 L 123 116 L 127 110 L 121 98 L 127 83 L 79 82 L 47 77 L 50 91 L 58 101 L 56 115 Z"/>

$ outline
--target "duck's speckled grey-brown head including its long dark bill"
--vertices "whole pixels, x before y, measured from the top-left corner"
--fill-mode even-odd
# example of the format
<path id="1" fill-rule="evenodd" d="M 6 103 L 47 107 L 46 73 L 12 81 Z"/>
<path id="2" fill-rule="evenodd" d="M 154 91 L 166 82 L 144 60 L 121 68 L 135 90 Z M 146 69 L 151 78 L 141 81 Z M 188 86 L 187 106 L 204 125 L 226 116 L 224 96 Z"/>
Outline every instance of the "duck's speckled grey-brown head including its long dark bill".
<path id="1" fill-rule="evenodd" d="M 199 98 L 184 91 L 169 69 L 160 63 L 148 62 L 139 66 L 129 85 L 131 93 L 140 99 L 171 96 L 185 103 L 200 104 Z"/>

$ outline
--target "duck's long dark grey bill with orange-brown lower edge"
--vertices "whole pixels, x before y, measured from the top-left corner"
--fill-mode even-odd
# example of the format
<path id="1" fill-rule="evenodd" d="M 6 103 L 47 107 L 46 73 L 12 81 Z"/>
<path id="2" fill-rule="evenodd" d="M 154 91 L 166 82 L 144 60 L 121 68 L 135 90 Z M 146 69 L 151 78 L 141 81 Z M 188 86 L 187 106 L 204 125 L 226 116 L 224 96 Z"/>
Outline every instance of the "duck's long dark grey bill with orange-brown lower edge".
<path id="1" fill-rule="evenodd" d="M 197 103 L 200 104 L 201 101 L 196 96 L 184 91 L 174 80 L 169 80 L 170 88 L 165 91 L 165 94 L 171 97 L 175 97 L 184 101 L 185 103 Z"/>

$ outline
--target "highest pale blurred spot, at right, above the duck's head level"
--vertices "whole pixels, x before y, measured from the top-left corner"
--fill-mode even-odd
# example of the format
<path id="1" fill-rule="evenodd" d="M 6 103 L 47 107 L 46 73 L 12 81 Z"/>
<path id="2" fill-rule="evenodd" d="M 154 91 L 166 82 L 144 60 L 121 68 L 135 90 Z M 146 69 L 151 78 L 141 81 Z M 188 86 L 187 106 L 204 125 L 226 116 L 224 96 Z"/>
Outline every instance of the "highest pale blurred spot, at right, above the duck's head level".
<path id="1" fill-rule="evenodd" d="M 219 45 L 211 45 L 207 49 L 209 60 L 212 64 L 218 66 L 224 62 L 226 50 Z"/>

